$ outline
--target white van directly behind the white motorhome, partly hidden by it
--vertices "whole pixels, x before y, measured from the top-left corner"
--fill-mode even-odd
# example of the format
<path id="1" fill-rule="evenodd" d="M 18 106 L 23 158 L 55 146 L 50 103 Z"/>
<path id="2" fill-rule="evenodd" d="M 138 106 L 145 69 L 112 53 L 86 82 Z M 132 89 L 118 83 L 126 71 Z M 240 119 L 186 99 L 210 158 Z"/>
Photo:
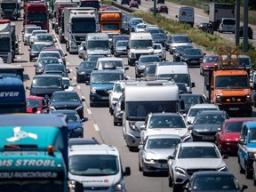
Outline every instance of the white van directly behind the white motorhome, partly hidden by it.
<path id="1" fill-rule="evenodd" d="M 192 92 L 195 83 L 191 83 L 188 65 L 185 62 L 160 62 L 156 65 L 156 80 L 172 79 L 176 83 L 186 84 L 188 92 Z"/>

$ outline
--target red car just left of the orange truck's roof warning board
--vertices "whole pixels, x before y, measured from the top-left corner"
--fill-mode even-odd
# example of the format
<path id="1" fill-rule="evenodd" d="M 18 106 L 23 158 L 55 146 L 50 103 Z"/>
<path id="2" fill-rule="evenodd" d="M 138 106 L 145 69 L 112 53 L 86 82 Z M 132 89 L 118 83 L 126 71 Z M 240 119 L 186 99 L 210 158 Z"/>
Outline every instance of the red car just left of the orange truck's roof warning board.
<path id="1" fill-rule="evenodd" d="M 200 75 L 204 76 L 204 71 L 214 68 L 219 62 L 219 55 L 204 55 L 203 62 L 200 63 Z"/>

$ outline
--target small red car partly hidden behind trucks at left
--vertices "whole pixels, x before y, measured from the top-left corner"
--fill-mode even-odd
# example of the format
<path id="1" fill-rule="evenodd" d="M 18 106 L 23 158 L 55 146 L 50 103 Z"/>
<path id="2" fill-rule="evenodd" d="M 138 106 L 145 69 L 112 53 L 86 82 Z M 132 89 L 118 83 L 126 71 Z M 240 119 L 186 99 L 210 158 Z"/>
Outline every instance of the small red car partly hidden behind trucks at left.
<path id="1" fill-rule="evenodd" d="M 48 113 L 48 105 L 43 97 L 28 96 L 27 102 L 27 113 Z"/>

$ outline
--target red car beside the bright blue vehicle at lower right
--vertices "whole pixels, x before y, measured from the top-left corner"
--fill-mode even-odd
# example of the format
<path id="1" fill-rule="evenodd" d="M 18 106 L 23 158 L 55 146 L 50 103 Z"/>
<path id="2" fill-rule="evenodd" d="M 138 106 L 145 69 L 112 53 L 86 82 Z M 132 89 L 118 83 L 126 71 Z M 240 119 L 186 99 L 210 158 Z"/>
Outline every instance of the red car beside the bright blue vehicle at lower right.
<path id="1" fill-rule="evenodd" d="M 215 144 L 223 153 L 237 153 L 238 139 L 240 137 L 240 132 L 242 125 L 245 121 L 250 119 L 226 119 L 222 124 L 221 128 L 217 129 L 215 134 Z"/>

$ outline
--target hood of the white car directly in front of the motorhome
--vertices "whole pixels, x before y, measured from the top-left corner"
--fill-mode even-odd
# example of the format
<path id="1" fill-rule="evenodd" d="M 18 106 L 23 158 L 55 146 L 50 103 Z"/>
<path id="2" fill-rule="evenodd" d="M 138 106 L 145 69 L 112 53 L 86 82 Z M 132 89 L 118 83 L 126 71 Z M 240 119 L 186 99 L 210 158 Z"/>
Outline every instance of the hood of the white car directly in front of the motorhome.
<path id="1" fill-rule="evenodd" d="M 156 129 L 148 129 L 147 135 L 155 135 L 155 134 L 174 134 L 183 137 L 188 132 L 187 128 L 156 128 Z"/>

